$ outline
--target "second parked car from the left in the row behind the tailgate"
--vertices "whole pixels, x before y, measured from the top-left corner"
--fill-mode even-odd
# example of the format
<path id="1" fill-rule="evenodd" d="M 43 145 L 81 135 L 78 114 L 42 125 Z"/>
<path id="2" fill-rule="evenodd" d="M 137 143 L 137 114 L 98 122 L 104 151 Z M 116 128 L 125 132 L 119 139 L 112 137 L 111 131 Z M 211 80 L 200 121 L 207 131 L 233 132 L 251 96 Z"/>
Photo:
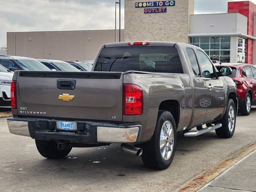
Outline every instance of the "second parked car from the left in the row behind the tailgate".
<path id="1" fill-rule="evenodd" d="M 64 61 L 59 60 L 50 60 L 50 59 L 37 59 L 42 64 L 44 64 L 46 67 L 48 67 L 52 71 L 80 71 L 77 70 L 77 68 L 73 67 L 72 65 L 68 64 Z"/>

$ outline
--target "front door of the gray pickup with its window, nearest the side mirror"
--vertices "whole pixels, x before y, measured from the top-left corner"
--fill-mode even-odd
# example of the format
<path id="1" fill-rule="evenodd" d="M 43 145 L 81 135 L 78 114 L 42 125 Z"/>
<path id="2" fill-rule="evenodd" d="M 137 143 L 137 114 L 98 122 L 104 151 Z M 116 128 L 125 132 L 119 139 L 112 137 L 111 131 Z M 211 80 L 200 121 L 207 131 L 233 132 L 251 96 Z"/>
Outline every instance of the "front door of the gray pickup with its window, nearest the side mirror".
<path id="1" fill-rule="evenodd" d="M 197 50 L 200 67 L 202 70 L 202 76 L 206 83 L 207 98 L 203 98 L 205 101 L 205 107 L 207 108 L 207 115 L 205 122 L 214 120 L 224 112 L 225 92 L 224 82 L 222 77 L 216 76 L 216 71 L 212 62 L 210 62 L 208 56 L 201 50 Z M 207 101 L 207 102 L 206 102 Z M 202 101 L 200 101 L 201 103 Z"/>

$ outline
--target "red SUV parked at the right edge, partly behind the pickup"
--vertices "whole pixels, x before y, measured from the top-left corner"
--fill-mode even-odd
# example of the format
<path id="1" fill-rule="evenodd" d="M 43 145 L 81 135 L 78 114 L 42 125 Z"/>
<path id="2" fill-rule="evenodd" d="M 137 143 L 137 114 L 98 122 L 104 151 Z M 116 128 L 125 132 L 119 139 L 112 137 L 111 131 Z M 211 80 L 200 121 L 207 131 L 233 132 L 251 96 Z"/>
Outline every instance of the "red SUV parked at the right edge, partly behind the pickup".
<path id="1" fill-rule="evenodd" d="M 242 115 L 249 115 L 252 104 L 256 103 L 256 68 L 251 64 L 222 63 L 232 69 L 230 78 L 236 83 L 239 111 Z"/>

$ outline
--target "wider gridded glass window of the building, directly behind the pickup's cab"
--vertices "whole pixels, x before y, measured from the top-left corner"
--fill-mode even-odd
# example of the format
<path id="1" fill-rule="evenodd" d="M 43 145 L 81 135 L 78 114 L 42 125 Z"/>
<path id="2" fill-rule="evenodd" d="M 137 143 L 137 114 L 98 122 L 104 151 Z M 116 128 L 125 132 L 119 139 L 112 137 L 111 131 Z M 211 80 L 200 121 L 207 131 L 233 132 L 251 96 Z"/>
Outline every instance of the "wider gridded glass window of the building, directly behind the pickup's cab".
<path id="1" fill-rule="evenodd" d="M 190 44 L 202 48 L 211 60 L 230 62 L 230 36 L 192 37 Z"/>

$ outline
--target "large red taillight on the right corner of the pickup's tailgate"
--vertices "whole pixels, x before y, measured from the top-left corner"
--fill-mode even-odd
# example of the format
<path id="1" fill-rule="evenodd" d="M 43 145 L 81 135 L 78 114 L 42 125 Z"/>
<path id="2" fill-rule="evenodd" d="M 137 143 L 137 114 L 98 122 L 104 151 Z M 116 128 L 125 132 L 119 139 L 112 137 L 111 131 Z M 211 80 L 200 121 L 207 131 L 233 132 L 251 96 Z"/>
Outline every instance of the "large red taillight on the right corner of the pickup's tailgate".
<path id="1" fill-rule="evenodd" d="M 143 114 L 142 88 L 134 84 L 123 85 L 123 115 Z"/>

